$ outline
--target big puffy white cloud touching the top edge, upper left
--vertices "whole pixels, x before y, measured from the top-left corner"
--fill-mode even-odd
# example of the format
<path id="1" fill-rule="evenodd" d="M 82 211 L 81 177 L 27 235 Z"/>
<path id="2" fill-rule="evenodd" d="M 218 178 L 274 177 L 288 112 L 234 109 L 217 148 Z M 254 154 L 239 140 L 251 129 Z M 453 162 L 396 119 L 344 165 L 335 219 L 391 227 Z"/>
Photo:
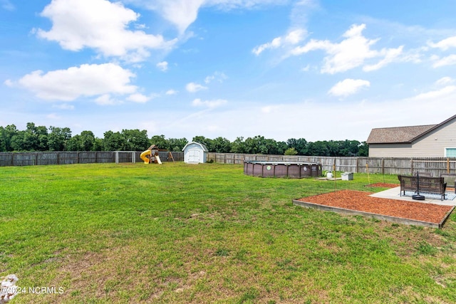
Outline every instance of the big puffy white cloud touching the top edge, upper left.
<path id="1" fill-rule="evenodd" d="M 38 28 L 38 37 L 57 41 L 70 51 L 94 48 L 104 56 L 139 62 L 150 56 L 150 49 L 170 48 L 175 43 L 165 41 L 160 35 L 128 30 L 128 24 L 137 21 L 140 15 L 120 2 L 53 0 L 41 16 L 51 19 L 53 25 L 49 31 Z"/>

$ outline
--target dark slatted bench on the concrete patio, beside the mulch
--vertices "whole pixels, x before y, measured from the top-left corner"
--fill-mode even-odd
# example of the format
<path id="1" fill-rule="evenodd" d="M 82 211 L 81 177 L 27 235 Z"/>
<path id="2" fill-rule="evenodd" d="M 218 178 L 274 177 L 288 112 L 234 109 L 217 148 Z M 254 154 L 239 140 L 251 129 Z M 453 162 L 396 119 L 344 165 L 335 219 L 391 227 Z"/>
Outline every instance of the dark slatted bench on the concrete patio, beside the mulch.
<path id="1" fill-rule="evenodd" d="M 400 181 L 400 196 L 405 195 L 405 191 L 425 192 L 430 194 L 440 194 L 440 200 L 445 199 L 447 183 L 443 177 L 411 177 L 408 175 L 398 175 Z"/>

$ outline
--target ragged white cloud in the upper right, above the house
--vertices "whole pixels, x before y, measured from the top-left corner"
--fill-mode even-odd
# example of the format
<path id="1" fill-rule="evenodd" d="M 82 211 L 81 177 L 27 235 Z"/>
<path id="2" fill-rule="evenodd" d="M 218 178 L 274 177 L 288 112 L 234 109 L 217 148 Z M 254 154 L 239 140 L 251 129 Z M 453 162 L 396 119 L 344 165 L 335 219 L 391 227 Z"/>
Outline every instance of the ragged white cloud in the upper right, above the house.
<path id="1" fill-rule="evenodd" d="M 305 46 L 298 46 L 291 51 L 291 55 L 299 56 L 310 51 L 323 50 L 326 52 L 321 73 L 335 74 L 351 70 L 363 65 L 368 59 L 383 58 L 374 65 L 366 65 L 365 70 L 377 70 L 384 65 L 394 61 L 400 53 L 403 46 L 398 48 L 383 48 L 380 51 L 371 49 L 378 39 L 368 39 L 362 35 L 366 24 L 356 25 L 343 33 L 343 41 L 340 43 L 331 43 L 328 40 L 312 39 Z"/>

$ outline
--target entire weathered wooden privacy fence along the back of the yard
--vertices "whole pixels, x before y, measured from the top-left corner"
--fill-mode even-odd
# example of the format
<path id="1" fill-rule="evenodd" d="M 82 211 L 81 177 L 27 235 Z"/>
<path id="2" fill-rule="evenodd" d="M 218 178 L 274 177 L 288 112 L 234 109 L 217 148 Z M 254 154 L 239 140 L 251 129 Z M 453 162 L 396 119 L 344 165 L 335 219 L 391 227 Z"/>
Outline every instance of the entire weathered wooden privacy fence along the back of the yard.
<path id="1" fill-rule="evenodd" d="M 90 152 L 0 152 L 0 167 L 43 164 L 91 164 L 142 162 L 138 151 Z M 158 152 L 162 162 L 172 162 L 168 152 Z M 183 152 L 172 152 L 176 162 L 184 161 Z M 433 177 L 443 173 L 456 173 L 456 158 L 429 157 L 321 157 L 301 155 L 264 155 L 237 153 L 207 153 L 207 161 L 224 164 L 244 164 L 245 160 L 264 162 L 319 162 L 322 170 L 371 174 L 414 174 L 428 172 Z"/>

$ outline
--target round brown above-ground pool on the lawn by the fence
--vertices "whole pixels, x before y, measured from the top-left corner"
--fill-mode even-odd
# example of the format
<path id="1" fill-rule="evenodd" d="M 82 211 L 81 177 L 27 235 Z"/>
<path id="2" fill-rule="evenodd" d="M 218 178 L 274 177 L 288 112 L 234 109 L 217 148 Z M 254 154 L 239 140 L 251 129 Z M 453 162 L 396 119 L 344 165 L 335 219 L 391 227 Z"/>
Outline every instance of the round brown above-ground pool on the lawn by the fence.
<path id="1" fill-rule="evenodd" d="M 254 177 L 321 177 L 321 164 L 317 162 L 257 162 L 245 161 L 244 174 Z"/>

